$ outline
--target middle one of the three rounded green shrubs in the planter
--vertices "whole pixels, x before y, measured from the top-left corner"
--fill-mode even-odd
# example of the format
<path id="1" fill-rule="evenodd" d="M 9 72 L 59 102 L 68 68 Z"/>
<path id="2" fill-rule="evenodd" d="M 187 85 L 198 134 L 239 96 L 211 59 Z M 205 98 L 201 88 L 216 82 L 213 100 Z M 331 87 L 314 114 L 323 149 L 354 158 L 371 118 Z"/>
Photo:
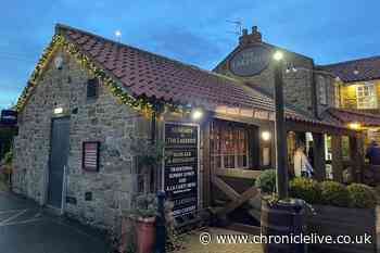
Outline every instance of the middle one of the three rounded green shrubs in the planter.
<path id="1" fill-rule="evenodd" d="M 321 204 L 340 207 L 350 206 L 350 193 L 342 184 L 337 181 L 322 181 L 319 187 Z"/>

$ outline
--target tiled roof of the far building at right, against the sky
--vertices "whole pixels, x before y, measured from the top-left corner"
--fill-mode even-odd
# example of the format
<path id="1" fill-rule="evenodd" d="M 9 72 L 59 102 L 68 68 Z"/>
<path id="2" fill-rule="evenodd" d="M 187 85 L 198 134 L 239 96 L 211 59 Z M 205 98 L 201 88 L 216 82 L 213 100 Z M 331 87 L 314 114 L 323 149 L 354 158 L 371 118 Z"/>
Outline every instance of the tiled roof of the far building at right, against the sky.
<path id="1" fill-rule="evenodd" d="M 331 72 L 344 83 L 380 79 L 380 56 L 340 62 L 319 68 Z"/>

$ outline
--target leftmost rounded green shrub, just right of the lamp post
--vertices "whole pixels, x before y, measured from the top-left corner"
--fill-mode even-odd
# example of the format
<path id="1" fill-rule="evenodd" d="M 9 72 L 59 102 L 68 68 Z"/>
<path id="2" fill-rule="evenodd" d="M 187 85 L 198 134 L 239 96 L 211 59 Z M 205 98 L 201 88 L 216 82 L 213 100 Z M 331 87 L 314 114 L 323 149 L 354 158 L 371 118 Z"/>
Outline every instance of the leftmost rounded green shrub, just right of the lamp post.
<path id="1" fill-rule="evenodd" d="M 289 186 L 290 195 L 306 201 L 308 204 L 320 203 L 319 184 L 309 178 L 294 178 Z"/>

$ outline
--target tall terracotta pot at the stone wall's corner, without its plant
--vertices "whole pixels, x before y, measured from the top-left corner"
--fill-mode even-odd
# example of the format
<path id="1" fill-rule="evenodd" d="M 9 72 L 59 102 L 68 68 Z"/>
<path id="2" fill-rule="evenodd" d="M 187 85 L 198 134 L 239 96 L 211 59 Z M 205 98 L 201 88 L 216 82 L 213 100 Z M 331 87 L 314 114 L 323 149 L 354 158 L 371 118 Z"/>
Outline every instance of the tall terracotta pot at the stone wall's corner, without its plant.
<path id="1" fill-rule="evenodd" d="M 155 239 L 155 218 L 135 220 L 137 253 L 152 253 Z"/>

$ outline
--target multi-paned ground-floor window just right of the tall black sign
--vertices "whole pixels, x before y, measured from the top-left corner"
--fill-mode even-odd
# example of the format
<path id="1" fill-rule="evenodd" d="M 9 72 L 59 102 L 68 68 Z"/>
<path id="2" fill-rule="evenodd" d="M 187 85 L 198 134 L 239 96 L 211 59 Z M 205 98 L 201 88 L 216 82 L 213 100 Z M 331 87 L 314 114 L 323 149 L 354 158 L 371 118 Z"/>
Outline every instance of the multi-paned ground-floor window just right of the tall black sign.
<path id="1" fill-rule="evenodd" d="M 249 167 L 248 129 L 227 122 L 214 122 L 211 151 L 212 164 L 216 168 Z"/>

